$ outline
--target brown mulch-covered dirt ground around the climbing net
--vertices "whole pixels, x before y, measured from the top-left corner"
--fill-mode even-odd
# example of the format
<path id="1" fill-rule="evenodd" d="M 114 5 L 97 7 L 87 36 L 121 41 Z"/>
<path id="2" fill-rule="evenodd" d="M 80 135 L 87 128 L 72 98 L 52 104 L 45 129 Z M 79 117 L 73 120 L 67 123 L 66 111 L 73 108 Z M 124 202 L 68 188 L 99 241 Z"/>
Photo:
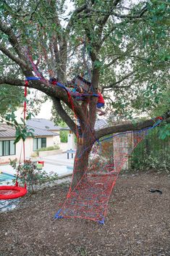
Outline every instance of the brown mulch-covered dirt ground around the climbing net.
<path id="1" fill-rule="evenodd" d="M 161 189 L 151 193 L 149 189 Z M 169 175 L 122 174 L 109 200 L 105 223 L 54 219 L 68 186 L 24 197 L 0 213 L 0 256 L 168 256 Z"/>

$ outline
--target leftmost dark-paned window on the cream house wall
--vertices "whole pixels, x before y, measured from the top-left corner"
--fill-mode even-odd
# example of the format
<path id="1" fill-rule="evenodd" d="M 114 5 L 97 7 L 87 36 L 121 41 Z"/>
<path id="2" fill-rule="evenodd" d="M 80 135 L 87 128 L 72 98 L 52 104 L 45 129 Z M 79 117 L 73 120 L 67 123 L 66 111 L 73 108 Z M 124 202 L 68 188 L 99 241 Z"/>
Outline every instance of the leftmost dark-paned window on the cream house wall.
<path id="1" fill-rule="evenodd" d="M 0 141 L 0 157 L 15 154 L 14 141 Z"/>

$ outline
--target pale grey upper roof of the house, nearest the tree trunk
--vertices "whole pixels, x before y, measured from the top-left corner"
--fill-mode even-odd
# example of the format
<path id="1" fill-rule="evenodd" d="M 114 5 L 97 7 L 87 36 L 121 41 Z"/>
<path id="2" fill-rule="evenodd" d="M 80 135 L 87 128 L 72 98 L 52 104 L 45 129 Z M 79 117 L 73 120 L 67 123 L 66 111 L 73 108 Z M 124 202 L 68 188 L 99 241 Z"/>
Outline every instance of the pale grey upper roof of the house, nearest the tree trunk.
<path id="1" fill-rule="evenodd" d="M 45 118 L 31 118 L 30 120 L 27 120 L 27 125 L 31 128 L 41 128 L 47 131 L 59 131 L 61 129 L 60 126 L 54 125 L 53 121 L 47 120 Z"/>

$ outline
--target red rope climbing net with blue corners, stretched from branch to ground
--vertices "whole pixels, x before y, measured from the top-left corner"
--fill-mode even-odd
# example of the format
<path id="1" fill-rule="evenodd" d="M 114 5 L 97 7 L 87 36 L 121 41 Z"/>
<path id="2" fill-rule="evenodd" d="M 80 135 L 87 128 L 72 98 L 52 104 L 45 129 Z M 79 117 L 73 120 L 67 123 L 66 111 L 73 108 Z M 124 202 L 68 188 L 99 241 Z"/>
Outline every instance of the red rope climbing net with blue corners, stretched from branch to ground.
<path id="1" fill-rule="evenodd" d="M 69 191 L 56 218 L 84 218 L 103 223 L 116 179 L 145 133 L 146 131 L 121 133 L 96 142 L 85 175 L 75 189 Z M 75 166 L 72 178 L 77 171 L 79 170 Z"/>

